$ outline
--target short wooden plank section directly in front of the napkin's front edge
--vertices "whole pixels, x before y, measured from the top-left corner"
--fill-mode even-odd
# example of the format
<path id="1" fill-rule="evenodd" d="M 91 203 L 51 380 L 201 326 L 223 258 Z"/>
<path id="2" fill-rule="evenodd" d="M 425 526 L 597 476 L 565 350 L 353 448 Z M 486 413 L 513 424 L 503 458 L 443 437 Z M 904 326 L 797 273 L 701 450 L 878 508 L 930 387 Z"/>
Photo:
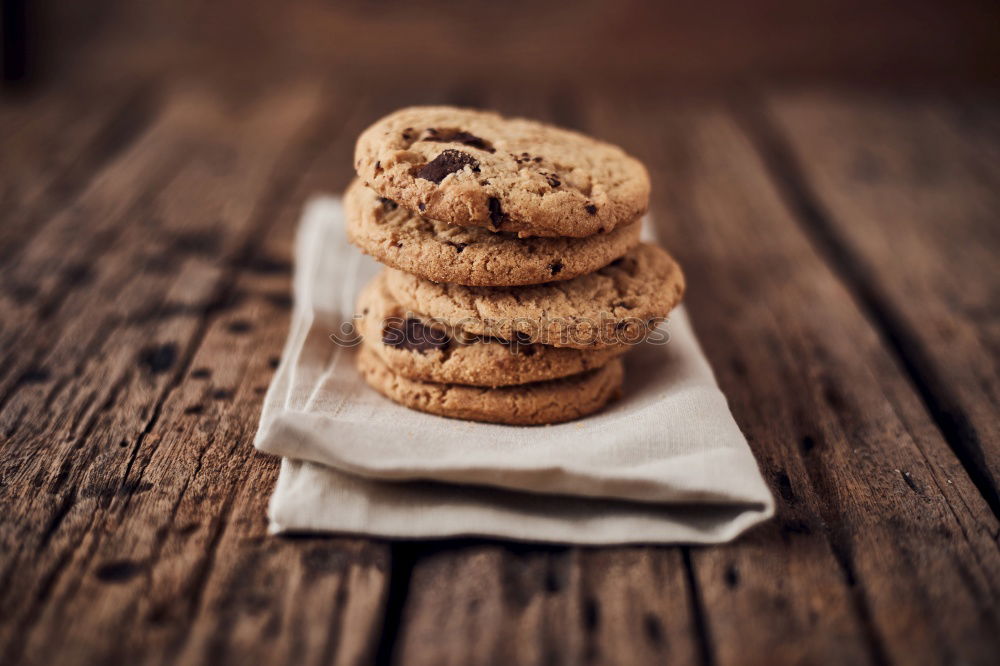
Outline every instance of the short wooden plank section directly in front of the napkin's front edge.
<path id="1" fill-rule="evenodd" d="M 694 663 L 677 549 L 417 549 L 395 662 Z"/>

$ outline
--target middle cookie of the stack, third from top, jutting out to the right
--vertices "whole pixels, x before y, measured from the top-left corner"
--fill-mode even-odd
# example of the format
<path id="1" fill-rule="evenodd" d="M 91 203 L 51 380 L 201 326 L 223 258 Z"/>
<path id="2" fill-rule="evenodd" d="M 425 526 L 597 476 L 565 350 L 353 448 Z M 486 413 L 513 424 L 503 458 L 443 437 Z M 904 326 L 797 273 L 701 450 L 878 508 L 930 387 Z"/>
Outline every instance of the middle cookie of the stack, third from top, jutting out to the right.
<path id="1" fill-rule="evenodd" d="M 564 282 L 465 287 L 388 269 L 385 284 L 403 308 L 450 329 L 576 349 L 640 342 L 684 294 L 680 266 L 649 243 Z"/>

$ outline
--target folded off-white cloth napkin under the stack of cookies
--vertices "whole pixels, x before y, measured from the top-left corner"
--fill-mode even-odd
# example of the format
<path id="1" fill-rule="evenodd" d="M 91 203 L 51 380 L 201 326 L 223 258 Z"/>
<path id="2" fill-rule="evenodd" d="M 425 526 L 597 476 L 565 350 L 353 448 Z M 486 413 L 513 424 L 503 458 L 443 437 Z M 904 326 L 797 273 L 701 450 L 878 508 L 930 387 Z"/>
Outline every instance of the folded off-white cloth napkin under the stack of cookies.
<path id="1" fill-rule="evenodd" d="M 354 368 L 358 290 L 340 200 L 311 201 L 291 331 L 255 445 L 284 456 L 272 532 L 457 535 L 580 544 L 718 543 L 774 502 L 687 316 L 626 356 L 624 398 L 580 421 L 472 423 L 396 405 Z"/>

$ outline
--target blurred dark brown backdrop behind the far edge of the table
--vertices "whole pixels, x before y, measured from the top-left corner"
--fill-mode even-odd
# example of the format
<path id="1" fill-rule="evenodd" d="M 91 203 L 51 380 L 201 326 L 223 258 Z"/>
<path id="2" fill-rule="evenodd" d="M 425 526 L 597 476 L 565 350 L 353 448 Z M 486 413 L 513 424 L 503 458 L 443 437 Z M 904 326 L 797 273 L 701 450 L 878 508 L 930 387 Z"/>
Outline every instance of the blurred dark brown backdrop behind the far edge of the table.
<path id="1" fill-rule="evenodd" d="M 836 0 L 648 2 L 55 2 L 4 0 L 8 80 L 301 77 L 362 89 L 754 83 L 992 84 L 1000 4 Z M 23 26 L 23 27 L 22 27 Z M 24 40 L 22 42 L 22 37 Z"/>

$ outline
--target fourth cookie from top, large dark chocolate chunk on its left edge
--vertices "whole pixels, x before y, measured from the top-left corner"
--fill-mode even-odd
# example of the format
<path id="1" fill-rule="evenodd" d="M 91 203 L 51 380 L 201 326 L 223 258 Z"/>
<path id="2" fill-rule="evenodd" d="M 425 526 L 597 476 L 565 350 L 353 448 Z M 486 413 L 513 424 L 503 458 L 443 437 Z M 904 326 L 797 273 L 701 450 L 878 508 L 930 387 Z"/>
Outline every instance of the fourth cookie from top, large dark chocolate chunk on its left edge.
<path id="1" fill-rule="evenodd" d="M 509 386 L 558 379 L 600 367 L 625 346 L 571 349 L 500 340 L 463 342 L 408 313 L 385 287 L 386 273 L 362 290 L 357 311 L 364 344 L 407 379 L 471 386 Z"/>

